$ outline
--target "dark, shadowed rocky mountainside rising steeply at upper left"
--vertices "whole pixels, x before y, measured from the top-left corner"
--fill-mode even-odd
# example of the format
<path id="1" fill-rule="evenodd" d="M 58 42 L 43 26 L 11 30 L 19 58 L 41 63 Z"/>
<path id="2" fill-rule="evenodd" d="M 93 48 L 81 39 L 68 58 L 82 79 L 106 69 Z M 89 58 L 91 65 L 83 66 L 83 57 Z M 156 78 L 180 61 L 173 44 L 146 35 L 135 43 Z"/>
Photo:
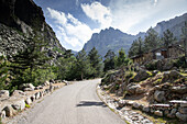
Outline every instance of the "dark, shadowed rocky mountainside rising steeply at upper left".
<path id="1" fill-rule="evenodd" d="M 53 57 L 53 61 L 61 56 L 54 48 L 66 50 L 45 22 L 42 9 L 33 0 L 0 0 L 0 53 L 11 57 L 29 47 L 25 41 L 34 36 L 48 43 L 44 49 Z"/>

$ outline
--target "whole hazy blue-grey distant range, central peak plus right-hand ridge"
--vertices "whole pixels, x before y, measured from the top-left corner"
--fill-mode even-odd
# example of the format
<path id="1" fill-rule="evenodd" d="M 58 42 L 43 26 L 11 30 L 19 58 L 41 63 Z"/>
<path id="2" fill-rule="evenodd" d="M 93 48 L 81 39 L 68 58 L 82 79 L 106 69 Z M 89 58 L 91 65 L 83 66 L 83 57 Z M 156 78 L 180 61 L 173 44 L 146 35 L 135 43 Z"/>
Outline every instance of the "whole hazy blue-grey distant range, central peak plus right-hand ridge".
<path id="1" fill-rule="evenodd" d="M 185 25 L 185 21 L 187 21 L 187 13 L 183 14 L 182 16 L 176 16 L 169 21 L 160 22 L 153 29 L 158 33 L 161 37 L 163 36 L 163 32 L 168 29 L 179 40 L 182 27 Z M 117 54 L 120 48 L 123 48 L 128 54 L 132 42 L 139 36 L 144 38 L 145 35 L 145 32 L 140 32 L 138 35 L 131 35 L 123 33 L 120 30 L 109 27 L 101 30 L 100 33 L 92 34 L 91 38 L 85 44 L 84 49 L 88 53 L 92 47 L 96 47 L 102 57 L 109 49 Z"/>

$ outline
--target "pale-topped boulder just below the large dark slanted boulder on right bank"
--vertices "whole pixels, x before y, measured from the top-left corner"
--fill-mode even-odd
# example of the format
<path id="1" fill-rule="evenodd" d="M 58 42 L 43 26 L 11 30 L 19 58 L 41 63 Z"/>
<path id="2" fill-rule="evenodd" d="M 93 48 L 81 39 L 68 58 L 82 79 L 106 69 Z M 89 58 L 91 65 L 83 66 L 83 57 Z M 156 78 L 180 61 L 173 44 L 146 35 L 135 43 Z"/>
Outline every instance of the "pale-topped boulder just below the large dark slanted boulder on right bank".
<path id="1" fill-rule="evenodd" d="M 130 83 L 127 86 L 127 91 L 130 94 L 135 94 L 139 89 L 141 89 L 141 86 L 136 83 Z"/>

